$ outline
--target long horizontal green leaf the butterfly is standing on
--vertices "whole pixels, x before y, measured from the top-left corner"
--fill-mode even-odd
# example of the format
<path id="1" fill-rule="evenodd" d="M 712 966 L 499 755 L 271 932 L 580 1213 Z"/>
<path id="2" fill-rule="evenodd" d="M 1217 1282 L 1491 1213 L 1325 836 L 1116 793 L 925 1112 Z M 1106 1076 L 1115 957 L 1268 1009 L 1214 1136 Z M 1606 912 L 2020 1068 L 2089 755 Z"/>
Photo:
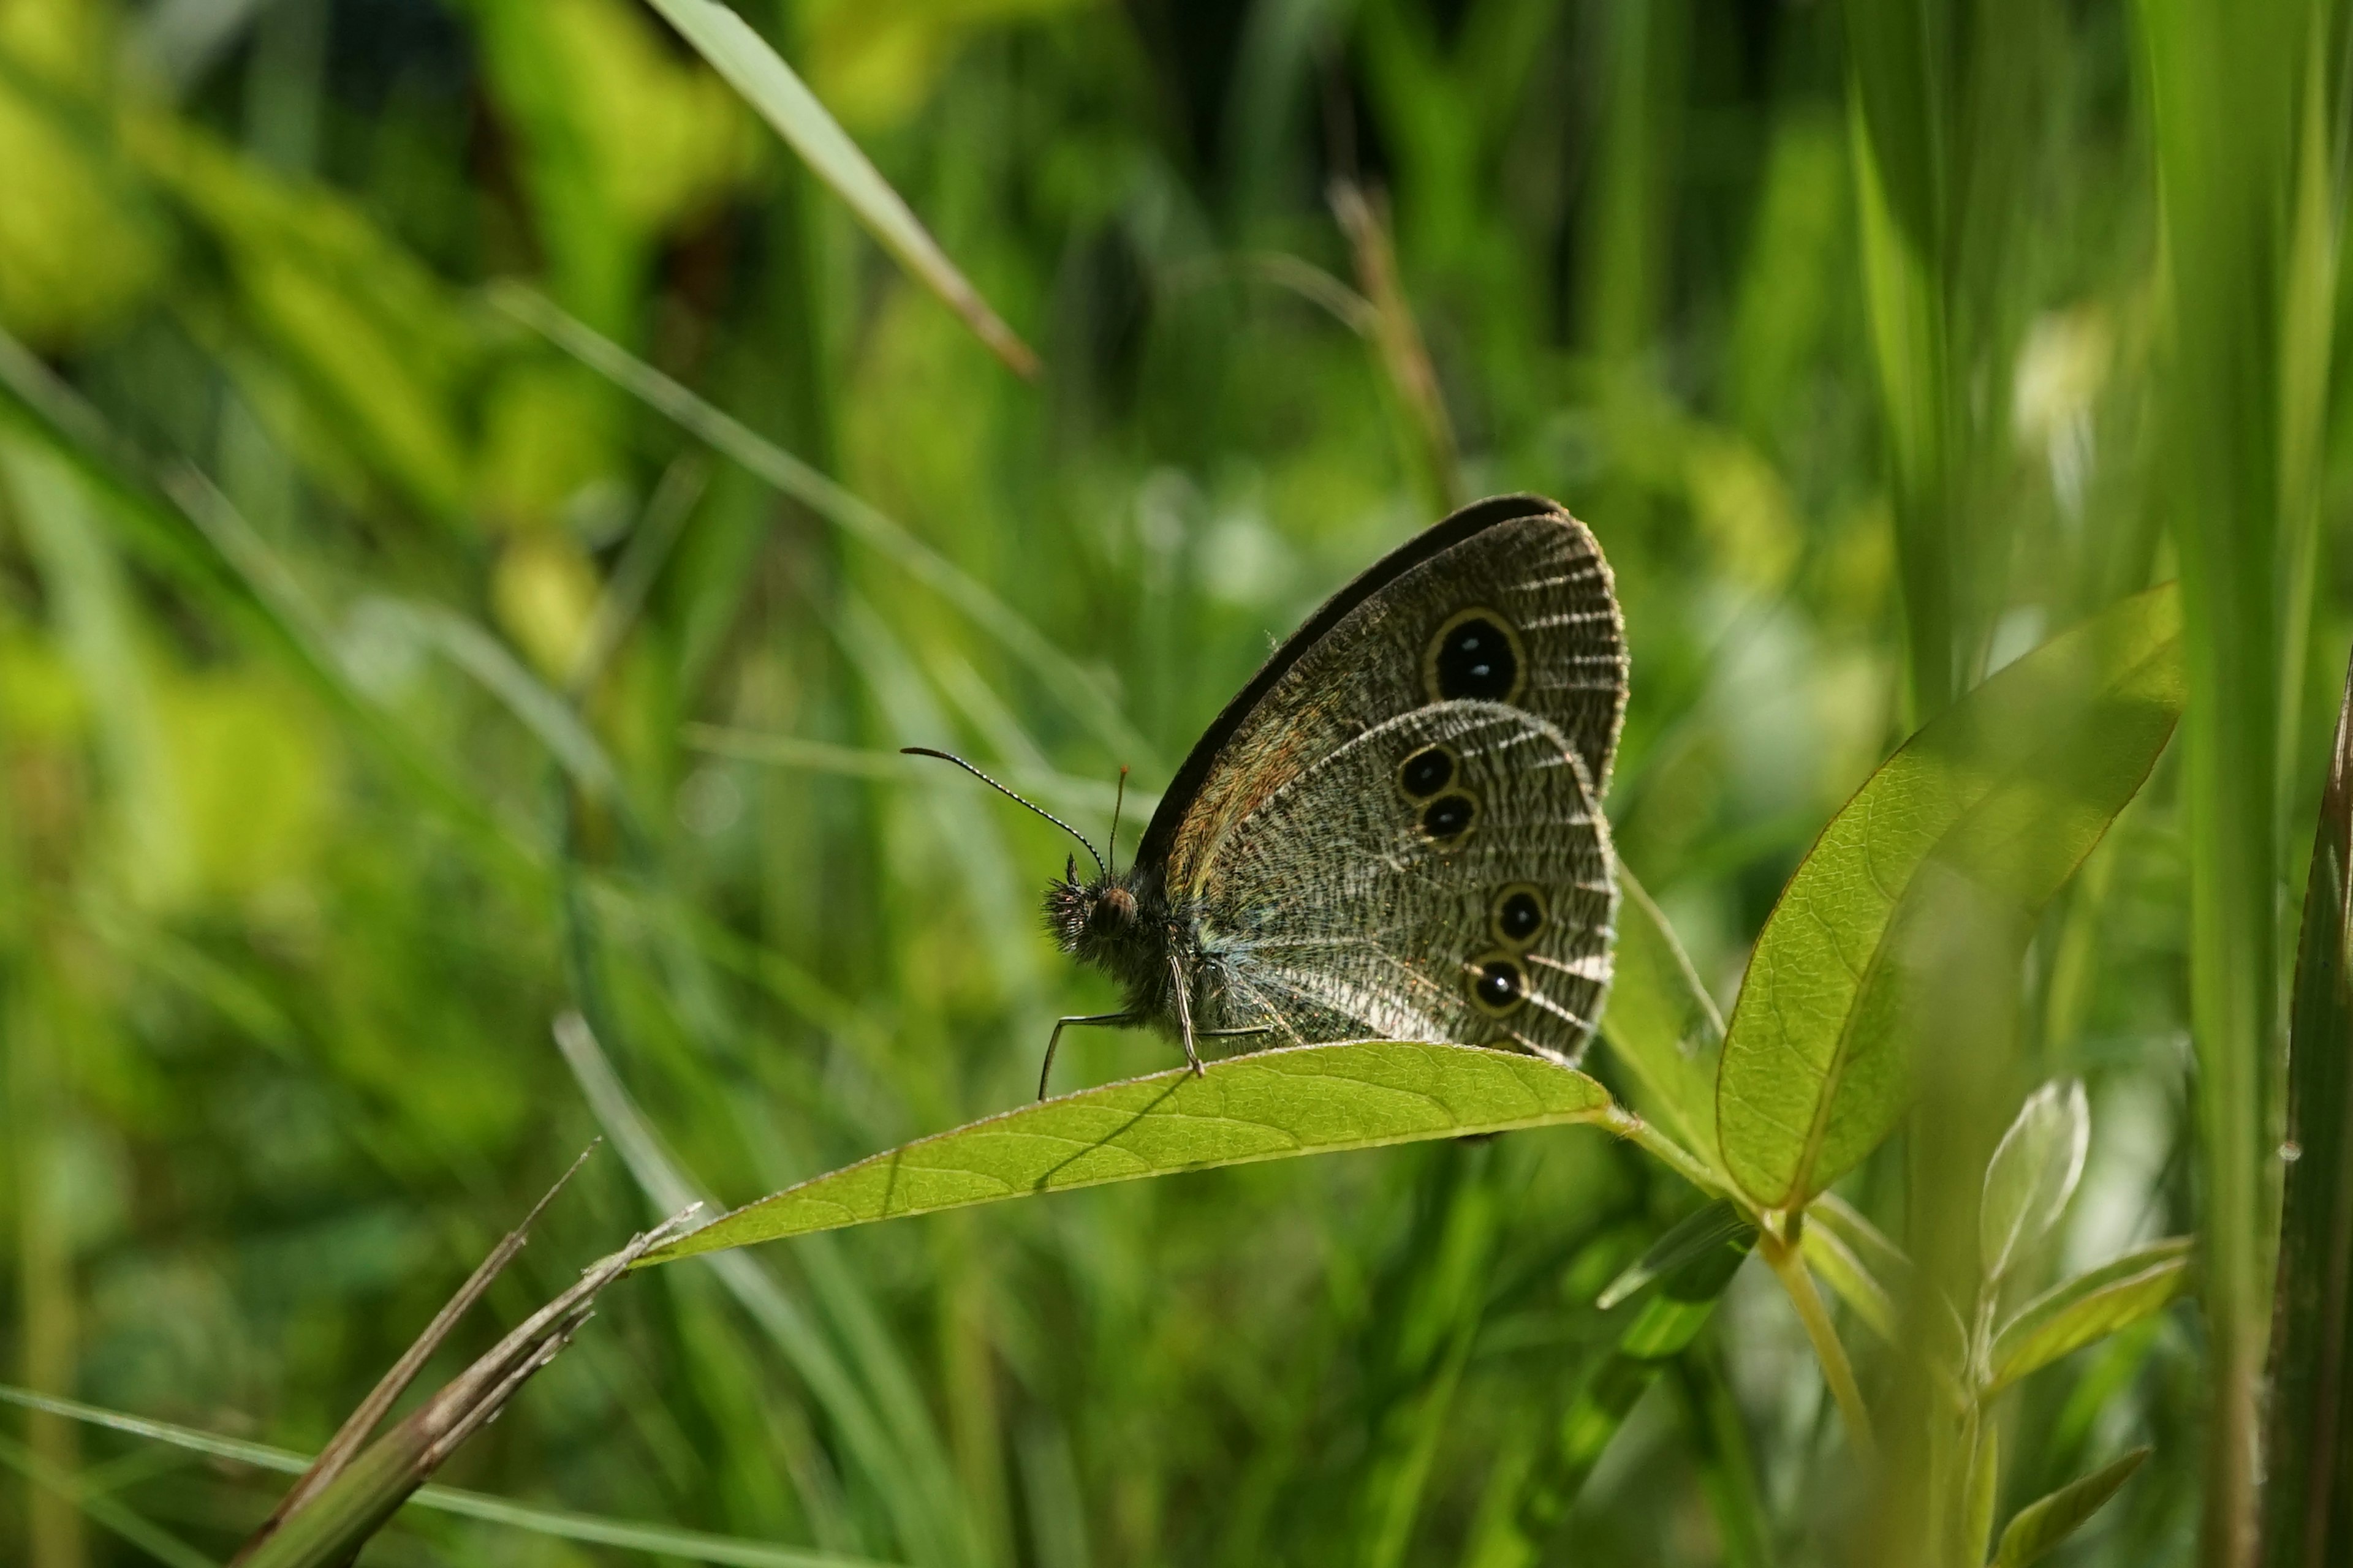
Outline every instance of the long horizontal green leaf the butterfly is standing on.
<path id="1" fill-rule="evenodd" d="M 1513 1051 L 1424 1041 L 1257 1051 L 1200 1077 L 1172 1067 L 918 1138 L 746 1204 L 645 1262 L 1033 1192 L 1562 1121 L 1628 1133 L 1635 1124 L 1586 1074 Z"/>

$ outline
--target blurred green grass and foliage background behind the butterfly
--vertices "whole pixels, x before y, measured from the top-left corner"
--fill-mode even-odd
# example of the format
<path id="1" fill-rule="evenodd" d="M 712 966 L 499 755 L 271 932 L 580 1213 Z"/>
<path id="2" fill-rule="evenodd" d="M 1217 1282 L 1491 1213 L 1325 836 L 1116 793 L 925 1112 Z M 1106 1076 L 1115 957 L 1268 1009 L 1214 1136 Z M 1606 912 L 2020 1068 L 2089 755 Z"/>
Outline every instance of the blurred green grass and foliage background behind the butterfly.
<path id="1" fill-rule="evenodd" d="M 892 748 L 1089 832 L 1132 764 L 1139 823 L 1271 637 L 1459 498 L 1558 496 L 1609 552 L 1619 849 L 1725 1001 L 1887 748 L 2174 574 L 2127 5 L 1960 7 L 1918 101 L 1821 0 L 741 9 L 1042 376 L 638 0 L 0 0 L 7 1380 L 311 1450 L 624 1098 L 725 1201 L 1024 1103 L 1049 1020 L 1113 1001 L 1038 929 L 1068 846 Z M 1915 110 L 1927 174 L 1887 158 Z M 932 555 L 713 454 L 494 280 Z M 2334 242 L 2318 289 L 2325 327 Z M 2325 329 L 2306 378 L 2329 407 Z M 2306 823 L 2353 428 L 2297 430 Z M 2028 966 L 2026 1081 L 2094 1105 L 2049 1269 L 2191 1225 L 2174 766 Z M 1167 1063 L 1080 1032 L 1061 1081 Z M 656 1213 L 628 1152 L 456 1349 Z M 1901 1152 L 1852 1190 L 1892 1213 Z M 673 1267 L 447 1479 L 887 1563 L 1513 1561 L 1624 1326 L 1593 1298 L 1689 1204 L 1522 1133 Z M 1546 1561 L 1833 1561 L 1852 1469 L 1760 1274 Z M 2198 1338 L 2177 1309 L 2026 1389 L 2009 1505 L 2158 1446 L 2068 1561 L 2188 1561 Z M 212 1559 L 278 1486 L 0 1432 Z M 0 1556 L 148 1561 L 31 1481 Z M 412 1509 L 367 1561 L 647 1559 Z"/>

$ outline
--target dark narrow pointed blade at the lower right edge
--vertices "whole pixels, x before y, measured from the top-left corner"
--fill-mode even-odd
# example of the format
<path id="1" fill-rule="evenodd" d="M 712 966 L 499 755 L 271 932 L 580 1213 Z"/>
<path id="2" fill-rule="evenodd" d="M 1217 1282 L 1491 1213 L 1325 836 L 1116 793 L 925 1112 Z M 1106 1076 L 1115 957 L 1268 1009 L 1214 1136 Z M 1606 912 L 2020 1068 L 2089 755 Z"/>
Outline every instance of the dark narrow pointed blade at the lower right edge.
<path id="1" fill-rule="evenodd" d="M 2353 1556 L 2353 668 L 2304 884 L 2287 1051 L 2287 1166 L 2278 1340 L 2264 1481 L 2264 1561 Z"/>

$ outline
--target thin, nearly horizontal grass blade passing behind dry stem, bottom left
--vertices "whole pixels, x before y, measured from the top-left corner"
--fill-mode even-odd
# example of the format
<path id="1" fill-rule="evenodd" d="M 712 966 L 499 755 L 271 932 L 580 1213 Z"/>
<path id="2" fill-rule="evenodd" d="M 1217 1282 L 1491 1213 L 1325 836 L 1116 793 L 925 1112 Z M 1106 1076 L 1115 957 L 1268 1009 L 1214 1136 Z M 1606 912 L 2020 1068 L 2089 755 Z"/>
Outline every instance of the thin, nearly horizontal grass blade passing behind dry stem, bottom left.
<path id="1" fill-rule="evenodd" d="M 176 1427 L 172 1422 L 125 1415 L 122 1410 L 104 1410 L 73 1399 L 49 1399 L 26 1389 L 12 1389 L 7 1385 L 0 1385 L 0 1401 L 26 1410 L 47 1410 L 49 1415 L 64 1415 L 68 1420 L 106 1427 L 129 1436 L 144 1436 L 155 1443 L 169 1443 L 214 1460 L 228 1460 L 231 1465 L 273 1469 L 287 1476 L 299 1476 L 313 1465 L 311 1455 L 294 1453 L 292 1448 L 273 1448 L 268 1443 L 252 1443 L 238 1436 L 219 1436 L 216 1432 L 198 1432 L 195 1427 Z M 532 1530 L 534 1535 L 548 1535 L 555 1540 L 576 1540 L 595 1547 L 675 1556 L 689 1563 L 720 1563 L 722 1568 L 892 1568 L 889 1563 L 864 1556 L 805 1552 L 800 1547 L 772 1547 L 767 1542 L 739 1540 L 732 1535 L 678 1530 L 659 1523 L 633 1523 L 628 1519 L 576 1514 L 572 1509 L 548 1509 L 454 1486 L 419 1486 L 409 1495 L 409 1507 L 456 1514 L 461 1519 L 480 1519 L 482 1523 Z"/>

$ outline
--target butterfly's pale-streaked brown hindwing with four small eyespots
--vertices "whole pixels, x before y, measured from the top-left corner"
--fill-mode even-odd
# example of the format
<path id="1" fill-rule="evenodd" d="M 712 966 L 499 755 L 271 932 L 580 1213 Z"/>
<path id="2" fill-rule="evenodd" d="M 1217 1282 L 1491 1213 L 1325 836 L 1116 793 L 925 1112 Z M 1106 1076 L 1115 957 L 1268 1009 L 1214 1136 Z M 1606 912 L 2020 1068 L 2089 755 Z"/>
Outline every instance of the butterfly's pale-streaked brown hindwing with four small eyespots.
<path id="1" fill-rule="evenodd" d="M 1609 983 L 1609 832 L 1560 729 L 1445 701 L 1311 759 L 1228 830 L 1195 917 L 1205 1009 L 1285 1041 L 1574 1060 Z"/>

